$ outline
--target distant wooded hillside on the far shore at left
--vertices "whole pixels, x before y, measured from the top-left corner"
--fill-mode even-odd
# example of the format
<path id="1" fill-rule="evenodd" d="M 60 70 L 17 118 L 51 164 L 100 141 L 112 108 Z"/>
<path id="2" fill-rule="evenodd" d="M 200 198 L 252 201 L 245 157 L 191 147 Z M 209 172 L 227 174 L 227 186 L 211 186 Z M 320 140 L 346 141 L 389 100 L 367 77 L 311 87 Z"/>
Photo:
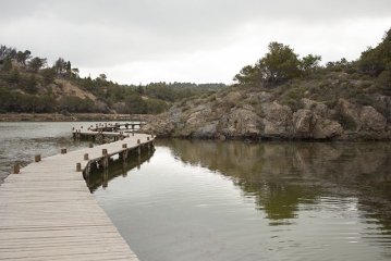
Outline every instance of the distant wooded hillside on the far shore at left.
<path id="1" fill-rule="evenodd" d="M 64 91 L 71 85 L 91 96 Z M 77 67 L 59 58 L 52 66 L 28 50 L 0 46 L 0 112 L 160 113 L 172 102 L 223 88 L 223 84 L 151 83 L 119 85 L 105 74 L 80 77 Z"/>

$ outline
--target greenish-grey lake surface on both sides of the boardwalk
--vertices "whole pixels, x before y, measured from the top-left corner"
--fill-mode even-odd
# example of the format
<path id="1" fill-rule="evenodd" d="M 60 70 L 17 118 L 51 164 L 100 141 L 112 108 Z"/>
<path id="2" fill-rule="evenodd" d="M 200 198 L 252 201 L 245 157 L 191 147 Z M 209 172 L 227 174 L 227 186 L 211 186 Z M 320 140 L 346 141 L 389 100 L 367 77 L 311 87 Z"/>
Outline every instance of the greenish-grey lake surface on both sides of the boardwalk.
<path id="1" fill-rule="evenodd" d="M 10 167 L 33 160 L 32 146 L 49 156 L 89 142 L 73 140 L 80 123 L 39 123 L 47 135 L 9 124 Z M 88 184 L 140 260 L 391 260 L 390 152 L 390 142 L 157 139 Z"/>

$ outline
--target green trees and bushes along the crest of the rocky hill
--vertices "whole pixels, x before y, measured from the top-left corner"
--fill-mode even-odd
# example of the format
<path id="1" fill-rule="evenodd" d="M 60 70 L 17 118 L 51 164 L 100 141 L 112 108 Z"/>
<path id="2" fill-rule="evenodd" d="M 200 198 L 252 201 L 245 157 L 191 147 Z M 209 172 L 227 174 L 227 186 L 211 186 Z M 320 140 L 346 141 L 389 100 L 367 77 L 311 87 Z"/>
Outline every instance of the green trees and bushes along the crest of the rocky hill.
<path id="1" fill-rule="evenodd" d="M 242 67 L 233 77 L 235 86 L 273 86 L 290 79 L 305 79 L 319 70 L 347 70 L 372 77 L 379 89 L 391 92 L 391 29 L 384 33 L 382 41 L 376 47 L 368 47 L 356 61 L 328 62 L 320 65 L 321 57 L 308 54 L 302 59 L 286 45 L 270 42 L 268 52 L 254 65 Z"/>

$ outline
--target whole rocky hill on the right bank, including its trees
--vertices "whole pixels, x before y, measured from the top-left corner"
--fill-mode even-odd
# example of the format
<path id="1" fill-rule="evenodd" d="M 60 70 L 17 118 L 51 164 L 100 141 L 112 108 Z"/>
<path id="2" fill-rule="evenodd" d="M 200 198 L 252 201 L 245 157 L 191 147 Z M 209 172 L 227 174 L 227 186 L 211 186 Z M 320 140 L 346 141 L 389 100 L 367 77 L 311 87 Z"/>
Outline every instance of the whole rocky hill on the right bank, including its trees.
<path id="1" fill-rule="evenodd" d="M 166 137 L 218 139 L 391 139 L 391 30 L 356 61 L 320 66 L 271 42 L 236 84 L 176 102 L 144 127 Z"/>

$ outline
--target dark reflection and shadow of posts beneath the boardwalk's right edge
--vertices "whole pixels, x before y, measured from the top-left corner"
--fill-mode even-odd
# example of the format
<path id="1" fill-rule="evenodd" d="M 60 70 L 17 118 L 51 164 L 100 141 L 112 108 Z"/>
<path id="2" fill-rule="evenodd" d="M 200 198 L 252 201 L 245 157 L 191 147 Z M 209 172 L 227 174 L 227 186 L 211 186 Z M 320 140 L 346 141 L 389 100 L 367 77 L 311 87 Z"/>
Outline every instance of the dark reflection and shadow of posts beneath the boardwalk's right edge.
<path id="1" fill-rule="evenodd" d="M 119 159 L 118 156 L 115 158 L 110 158 L 108 169 L 99 169 L 96 164 L 91 164 L 91 171 L 86 181 L 90 192 L 94 192 L 99 187 L 107 188 L 109 182 L 115 177 L 126 177 L 127 172 L 132 169 L 140 169 L 144 162 L 149 161 L 154 156 L 154 152 L 155 149 L 147 151 L 142 150 L 142 153 L 138 154 L 135 150 L 130 150 L 127 152 L 127 159 L 125 160 Z"/>

